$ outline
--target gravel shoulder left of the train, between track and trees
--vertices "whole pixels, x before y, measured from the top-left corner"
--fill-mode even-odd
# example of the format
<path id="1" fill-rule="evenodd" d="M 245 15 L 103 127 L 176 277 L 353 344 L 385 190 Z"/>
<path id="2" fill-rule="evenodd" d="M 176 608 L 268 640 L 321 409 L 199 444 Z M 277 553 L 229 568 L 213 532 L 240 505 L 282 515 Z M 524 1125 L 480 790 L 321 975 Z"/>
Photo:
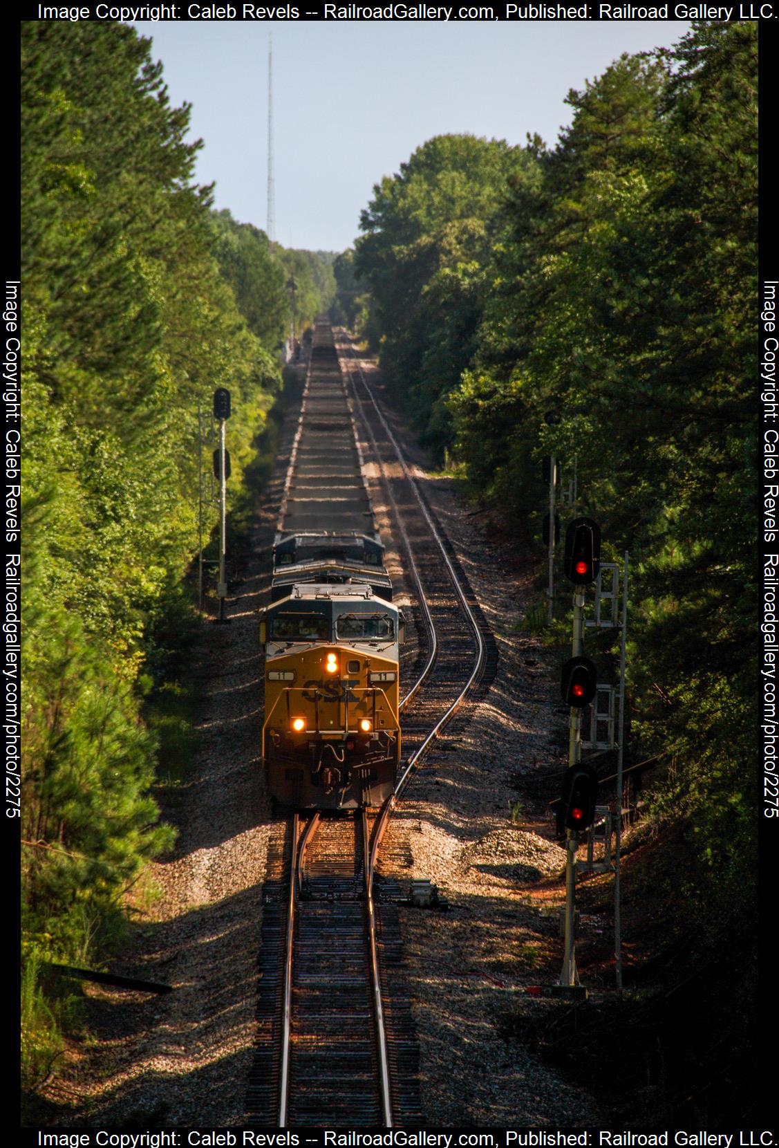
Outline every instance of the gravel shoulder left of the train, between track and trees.
<path id="1" fill-rule="evenodd" d="M 240 1126 L 254 1058 L 262 890 L 273 827 L 260 778 L 263 659 L 256 611 L 268 600 L 273 542 L 302 379 L 286 393 L 276 465 L 252 530 L 248 567 L 231 580 L 228 626 L 204 620 L 192 654 L 201 711 L 186 782 L 155 794 L 176 825 L 150 867 L 158 898 L 111 971 L 163 982 L 163 996 L 89 985 L 86 1040 L 52 1100 L 57 1123 Z"/>

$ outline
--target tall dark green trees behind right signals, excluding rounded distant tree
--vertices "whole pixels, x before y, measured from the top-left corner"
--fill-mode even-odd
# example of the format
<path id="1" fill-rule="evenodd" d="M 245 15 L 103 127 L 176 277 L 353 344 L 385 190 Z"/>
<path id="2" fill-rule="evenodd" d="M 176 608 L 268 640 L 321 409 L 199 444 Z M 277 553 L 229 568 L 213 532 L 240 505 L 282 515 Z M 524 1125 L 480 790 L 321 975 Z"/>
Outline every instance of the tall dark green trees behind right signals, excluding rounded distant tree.
<path id="1" fill-rule="evenodd" d="M 570 466 L 576 443 L 585 505 L 633 559 L 634 728 L 676 762 L 659 808 L 687 827 L 695 895 L 716 879 L 724 903 L 754 844 L 755 29 L 698 25 L 569 103 L 540 184 L 515 186 L 451 408 L 472 473 L 517 515 L 543 505 L 539 455 Z"/>

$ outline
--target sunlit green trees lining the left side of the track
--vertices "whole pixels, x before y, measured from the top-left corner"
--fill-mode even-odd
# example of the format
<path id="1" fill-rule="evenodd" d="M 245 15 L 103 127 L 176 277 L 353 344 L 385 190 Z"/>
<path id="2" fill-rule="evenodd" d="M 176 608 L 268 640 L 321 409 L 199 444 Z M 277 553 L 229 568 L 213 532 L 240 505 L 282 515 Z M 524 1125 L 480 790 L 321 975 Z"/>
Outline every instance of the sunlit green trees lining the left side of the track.
<path id="1" fill-rule="evenodd" d="M 41 959 L 100 960 L 124 891 L 170 844 L 142 695 L 186 625 L 198 437 L 232 391 L 240 488 L 289 332 L 332 297 L 327 259 L 211 211 L 200 144 L 150 45 L 110 23 L 22 25 L 25 1080 L 54 1006 Z M 205 507 L 207 535 L 215 507 Z"/>

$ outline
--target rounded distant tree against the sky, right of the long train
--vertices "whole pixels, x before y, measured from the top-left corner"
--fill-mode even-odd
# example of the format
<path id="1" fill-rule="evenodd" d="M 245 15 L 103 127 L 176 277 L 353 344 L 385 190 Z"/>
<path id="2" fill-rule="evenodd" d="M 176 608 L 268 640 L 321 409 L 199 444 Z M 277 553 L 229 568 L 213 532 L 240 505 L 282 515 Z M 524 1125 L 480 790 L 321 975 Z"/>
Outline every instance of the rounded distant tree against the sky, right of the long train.
<path id="1" fill-rule="evenodd" d="M 382 179 L 363 212 L 355 270 L 371 288 L 365 329 L 390 388 L 437 447 L 451 442 L 443 400 L 475 349 L 489 288 L 488 223 L 509 177 L 531 166 L 503 141 L 438 135 Z"/>

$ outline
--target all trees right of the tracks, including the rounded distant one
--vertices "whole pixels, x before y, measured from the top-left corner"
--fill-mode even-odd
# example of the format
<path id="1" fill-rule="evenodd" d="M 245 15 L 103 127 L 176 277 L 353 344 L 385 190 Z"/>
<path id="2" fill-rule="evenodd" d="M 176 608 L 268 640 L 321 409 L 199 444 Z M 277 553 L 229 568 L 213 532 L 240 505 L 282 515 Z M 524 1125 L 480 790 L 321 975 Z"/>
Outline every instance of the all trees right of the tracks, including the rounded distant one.
<path id="1" fill-rule="evenodd" d="M 748 22 L 624 55 L 569 94 L 552 149 L 418 149 L 357 249 L 390 380 L 499 515 L 537 534 L 538 460 L 570 476 L 576 451 L 579 512 L 631 552 L 633 745 L 668 767 L 655 810 L 681 830 L 687 905 L 733 914 L 756 817 L 756 77 Z"/>

